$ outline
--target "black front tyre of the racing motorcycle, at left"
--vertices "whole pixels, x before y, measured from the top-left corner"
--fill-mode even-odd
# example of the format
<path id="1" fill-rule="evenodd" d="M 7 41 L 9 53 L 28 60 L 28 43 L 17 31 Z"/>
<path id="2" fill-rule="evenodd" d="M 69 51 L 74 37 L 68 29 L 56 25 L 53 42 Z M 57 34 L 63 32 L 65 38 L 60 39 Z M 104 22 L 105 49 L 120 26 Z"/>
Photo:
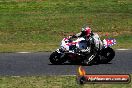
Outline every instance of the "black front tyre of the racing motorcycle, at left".
<path id="1" fill-rule="evenodd" d="M 62 64 L 65 62 L 65 59 L 62 58 L 62 54 L 56 51 L 50 55 L 49 60 L 52 64 Z"/>

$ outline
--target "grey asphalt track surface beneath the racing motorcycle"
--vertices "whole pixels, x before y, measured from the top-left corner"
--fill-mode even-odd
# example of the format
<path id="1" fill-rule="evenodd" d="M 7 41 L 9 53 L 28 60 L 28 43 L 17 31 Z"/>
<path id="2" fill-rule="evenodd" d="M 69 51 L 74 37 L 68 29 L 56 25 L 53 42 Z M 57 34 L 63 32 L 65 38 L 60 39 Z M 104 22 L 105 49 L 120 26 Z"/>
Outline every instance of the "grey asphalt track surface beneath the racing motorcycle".
<path id="1" fill-rule="evenodd" d="M 65 63 L 52 65 L 51 52 L 0 53 L 0 76 L 76 75 L 78 65 Z M 130 74 L 132 73 L 132 50 L 116 51 L 115 58 L 108 64 L 83 66 L 87 74 Z"/>

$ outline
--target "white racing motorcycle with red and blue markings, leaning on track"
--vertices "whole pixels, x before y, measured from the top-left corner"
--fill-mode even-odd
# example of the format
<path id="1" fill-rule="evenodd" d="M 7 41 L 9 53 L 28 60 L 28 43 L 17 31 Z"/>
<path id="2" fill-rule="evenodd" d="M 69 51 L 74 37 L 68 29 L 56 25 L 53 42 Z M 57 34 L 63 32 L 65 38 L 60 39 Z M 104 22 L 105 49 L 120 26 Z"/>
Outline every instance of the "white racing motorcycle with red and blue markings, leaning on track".
<path id="1" fill-rule="evenodd" d="M 111 48 L 116 44 L 116 40 L 107 38 L 100 40 L 98 34 L 71 40 L 70 37 L 63 38 L 60 48 L 52 52 L 49 60 L 52 64 L 92 65 L 94 63 L 109 63 L 115 56 L 115 51 Z"/>

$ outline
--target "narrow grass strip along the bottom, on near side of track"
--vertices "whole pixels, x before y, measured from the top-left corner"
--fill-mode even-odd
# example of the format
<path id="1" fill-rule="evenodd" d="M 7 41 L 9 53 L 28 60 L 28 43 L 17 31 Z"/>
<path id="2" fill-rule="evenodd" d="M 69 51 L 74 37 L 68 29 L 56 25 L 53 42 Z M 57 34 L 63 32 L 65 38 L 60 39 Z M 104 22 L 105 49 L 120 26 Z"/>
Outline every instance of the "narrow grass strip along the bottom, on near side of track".
<path id="1" fill-rule="evenodd" d="M 79 85 L 76 76 L 0 77 L 0 88 L 131 88 L 129 84 Z"/>

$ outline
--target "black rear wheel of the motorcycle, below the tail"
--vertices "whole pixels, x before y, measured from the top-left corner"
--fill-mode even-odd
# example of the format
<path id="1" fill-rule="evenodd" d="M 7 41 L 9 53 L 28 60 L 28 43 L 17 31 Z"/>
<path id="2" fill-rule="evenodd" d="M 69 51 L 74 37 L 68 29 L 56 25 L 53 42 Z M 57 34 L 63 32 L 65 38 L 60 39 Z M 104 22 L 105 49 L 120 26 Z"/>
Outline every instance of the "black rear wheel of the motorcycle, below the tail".
<path id="1" fill-rule="evenodd" d="M 115 57 L 115 51 L 108 47 L 101 51 L 100 63 L 107 64 Z"/>

